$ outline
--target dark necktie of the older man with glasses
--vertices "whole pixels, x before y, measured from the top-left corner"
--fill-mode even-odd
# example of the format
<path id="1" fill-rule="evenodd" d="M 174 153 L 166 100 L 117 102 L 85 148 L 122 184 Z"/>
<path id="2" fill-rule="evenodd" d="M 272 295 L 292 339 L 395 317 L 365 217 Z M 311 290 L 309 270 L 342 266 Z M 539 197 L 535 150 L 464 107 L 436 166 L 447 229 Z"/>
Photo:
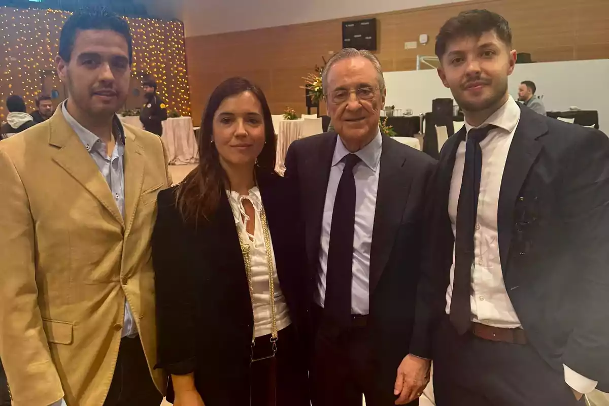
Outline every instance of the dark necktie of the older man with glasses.
<path id="1" fill-rule="evenodd" d="M 347 326 L 351 318 L 351 275 L 355 227 L 353 167 L 360 159 L 353 153 L 343 159 L 345 159 L 345 168 L 336 190 L 330 227 L 324 313 L 340 326 Z"/>

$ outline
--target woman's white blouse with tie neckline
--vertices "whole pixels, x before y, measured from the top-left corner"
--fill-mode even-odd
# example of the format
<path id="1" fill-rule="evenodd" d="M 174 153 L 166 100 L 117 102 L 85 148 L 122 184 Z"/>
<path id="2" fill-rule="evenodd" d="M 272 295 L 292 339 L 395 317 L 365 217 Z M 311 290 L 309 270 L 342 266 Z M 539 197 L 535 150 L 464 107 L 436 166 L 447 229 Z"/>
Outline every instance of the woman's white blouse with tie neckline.
<path id="1" fill-rule="evenodd" d="M 269 298 L 269 265 L 267 261 L 266 246 L 264 245 L 264 232 L 262 231 L 262 197 L 258 187 L 250 189 L 250 194 L 240 196 L 238 192 L 227 191 L 228 201 L 231 209 L 233 209 L 234 223 L 238 233 L 241 234 L 241 239 L 245 243 L 250 244 L 250 261 L 252 264 L 252 290 L 253 290 L 253 311 L 254 311 L 254 336 L 261 337 L 262 335 L 271 334 L 272 315 Z M 243 200 L 249 200 L 254 207 L 254 234 L 247 232 L 247 222 L 251 219 L 245 214 Z M 244 221 L 245 220 L 245 221 Z M 270 239 L 270 235 L 269 235 Z M 273 242 L 271 240 L 271 251 L 273 251 Z M 273 257 L 273 278 L 275 281 L 275 320 L 277 330 L 286 328 L 290 325 L 290 317 L 287 311 L 286 299 L 281 292 L 279 278 L 277 276 L 277 265 L 275 264 L 275 253 Z"/>

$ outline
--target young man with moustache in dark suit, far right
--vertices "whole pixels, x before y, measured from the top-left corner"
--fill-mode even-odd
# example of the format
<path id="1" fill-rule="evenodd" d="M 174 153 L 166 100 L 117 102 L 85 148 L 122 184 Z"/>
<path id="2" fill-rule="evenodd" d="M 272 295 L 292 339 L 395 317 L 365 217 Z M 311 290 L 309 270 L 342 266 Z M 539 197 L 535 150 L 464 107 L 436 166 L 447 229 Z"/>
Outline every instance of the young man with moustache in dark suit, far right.
<path id="1" fill-rule="evenodd" d="M 509 96 L 516 51 L 496 13 L 449 19 L 435 53 L 465 115 L 440 154 L 414 332 L 438 406 L 609 390 L 609 139 Z"/>

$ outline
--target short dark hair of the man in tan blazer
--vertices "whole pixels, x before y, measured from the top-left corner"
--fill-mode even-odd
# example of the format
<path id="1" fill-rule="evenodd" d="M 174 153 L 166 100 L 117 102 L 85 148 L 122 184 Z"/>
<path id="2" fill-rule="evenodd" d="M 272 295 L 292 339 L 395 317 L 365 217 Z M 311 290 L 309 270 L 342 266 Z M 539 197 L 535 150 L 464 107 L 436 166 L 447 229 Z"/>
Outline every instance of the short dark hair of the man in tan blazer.
<path id="1" fill-rule="evenodd" d="M 121 34 L 127 41 L 129 64 L 133 63 L 133 38 L 129 24 L 105 7 L 80 10 L 72 14 L 63 24 L 59 37 L 59 56 L 66 62 L 70 61 L 76 35 L 82 30 L 111 30 Z"/>

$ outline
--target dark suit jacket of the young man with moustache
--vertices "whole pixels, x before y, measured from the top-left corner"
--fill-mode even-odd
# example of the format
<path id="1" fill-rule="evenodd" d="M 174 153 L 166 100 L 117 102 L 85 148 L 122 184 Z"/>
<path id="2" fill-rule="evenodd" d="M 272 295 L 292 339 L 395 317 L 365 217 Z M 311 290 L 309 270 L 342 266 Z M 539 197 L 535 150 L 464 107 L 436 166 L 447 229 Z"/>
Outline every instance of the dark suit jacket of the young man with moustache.
<path id="1" fill-rule="evenodd" d="M 454 237 L 448 217 L 460 133 L 442 149 L 433 234 L 420 282 L 415 337 L 422 354 L 446 307 Z M 461 136 L 461 138 L 460 138 Z M 530 343 L 609 390 L 609 139 L 521 107 L 498 209 L 505 287 Z"/>

